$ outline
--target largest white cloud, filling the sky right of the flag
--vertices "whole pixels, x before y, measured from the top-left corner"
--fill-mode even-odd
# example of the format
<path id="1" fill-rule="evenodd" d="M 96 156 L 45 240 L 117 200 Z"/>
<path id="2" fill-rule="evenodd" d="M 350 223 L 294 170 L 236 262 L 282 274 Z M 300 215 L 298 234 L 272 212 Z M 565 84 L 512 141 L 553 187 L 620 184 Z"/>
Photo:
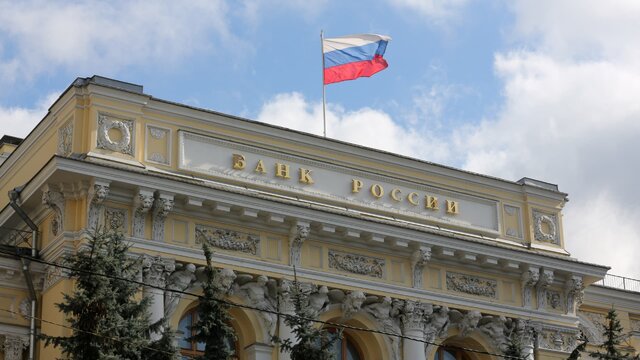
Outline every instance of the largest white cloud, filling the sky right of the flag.
<path id="1" fill-rule="evenodd" d="M 519 1 L 516 35 L 529 50 L 496 55 L 500 113 L 457 129 L 464 167 L 557 183 L 572 199 L 566 245 L 585 261 L 639 277 L 640 5 Z"/>

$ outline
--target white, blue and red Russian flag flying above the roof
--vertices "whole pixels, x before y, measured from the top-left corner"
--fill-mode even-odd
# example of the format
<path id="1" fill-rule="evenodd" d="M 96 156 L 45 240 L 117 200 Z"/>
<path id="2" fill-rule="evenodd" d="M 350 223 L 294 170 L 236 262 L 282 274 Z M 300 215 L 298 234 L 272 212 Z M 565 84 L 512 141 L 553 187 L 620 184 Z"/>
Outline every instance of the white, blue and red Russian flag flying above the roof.
<path id="1" fill-rule="evenodd" d="M 371 76 L 389 66 L 382 58 L 391 38 L 357 34 L 323 39 L 324 84 Z"/>

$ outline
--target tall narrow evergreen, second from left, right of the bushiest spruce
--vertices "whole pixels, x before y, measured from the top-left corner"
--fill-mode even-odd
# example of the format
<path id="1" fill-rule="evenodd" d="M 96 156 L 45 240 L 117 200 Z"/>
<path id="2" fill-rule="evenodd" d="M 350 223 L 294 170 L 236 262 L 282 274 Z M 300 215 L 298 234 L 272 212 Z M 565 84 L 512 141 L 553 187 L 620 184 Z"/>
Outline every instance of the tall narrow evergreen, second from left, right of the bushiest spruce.
<path id="1" fill-rule="evenodd" d="M 229 325 L 229 305 L 222 302 L 225 289 L 219 285 L 217 274 L 219 270 L 213 268 L 212 252 L 209 246 L 202 244 L 204 256 L 207 259 L 205 267 L 205 281 L 202 284 L 204 294 L 198 305 L 198 320 L 192 329 L 196 331 L 191 340 L 205 344 L 204 355 L 200 360 L 229 360 L 234 355 L 232 344 L 236 340 L 233 328 Z"/>

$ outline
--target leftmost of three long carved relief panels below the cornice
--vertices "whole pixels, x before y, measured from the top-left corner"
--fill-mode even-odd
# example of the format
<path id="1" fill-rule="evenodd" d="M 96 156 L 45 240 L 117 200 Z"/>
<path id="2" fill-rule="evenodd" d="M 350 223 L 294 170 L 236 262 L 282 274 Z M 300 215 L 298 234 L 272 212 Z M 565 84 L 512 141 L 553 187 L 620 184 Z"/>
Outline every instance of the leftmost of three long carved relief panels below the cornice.
<path id="1" fill-rule="evenodd" d="M 197 224 L 196 244 L 202 244 L 205 241 L 218 249 L 257 255 L 260 235 Z"/>

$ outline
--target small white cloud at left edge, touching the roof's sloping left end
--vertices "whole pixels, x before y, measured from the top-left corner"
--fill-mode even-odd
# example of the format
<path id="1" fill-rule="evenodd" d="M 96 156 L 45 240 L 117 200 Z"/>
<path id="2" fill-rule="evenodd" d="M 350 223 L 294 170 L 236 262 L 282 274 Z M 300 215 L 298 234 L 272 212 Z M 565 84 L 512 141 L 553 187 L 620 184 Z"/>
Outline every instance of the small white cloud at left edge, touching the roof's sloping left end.
<path id="1" fill-rule="evenodd" d="M 49 106 L 53 104 L 58 96 L 60 96 L 60 93 L 51 93 L 41 99 L 33 108 L 0 107 L 0 129 L 2 129 L 0 136 L 26 137 L 44 118 Z"/>

